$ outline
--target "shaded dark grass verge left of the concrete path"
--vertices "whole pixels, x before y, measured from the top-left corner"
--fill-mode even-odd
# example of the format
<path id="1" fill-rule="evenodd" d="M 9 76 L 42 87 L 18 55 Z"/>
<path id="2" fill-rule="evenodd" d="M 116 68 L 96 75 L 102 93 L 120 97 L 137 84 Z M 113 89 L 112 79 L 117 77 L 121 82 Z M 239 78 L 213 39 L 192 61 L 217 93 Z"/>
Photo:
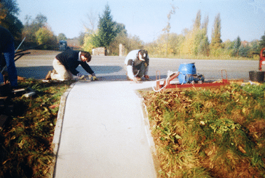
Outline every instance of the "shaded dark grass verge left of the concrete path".
<path id="1" fill-rule="evenodd" d="M 0 177 L 45 177 L 53 161 L 53 132 L 60 96 L 72 81 L 19 82 L 31 88 L 34 97 L 13 97 L 15 112 L 0 130 Z"/>

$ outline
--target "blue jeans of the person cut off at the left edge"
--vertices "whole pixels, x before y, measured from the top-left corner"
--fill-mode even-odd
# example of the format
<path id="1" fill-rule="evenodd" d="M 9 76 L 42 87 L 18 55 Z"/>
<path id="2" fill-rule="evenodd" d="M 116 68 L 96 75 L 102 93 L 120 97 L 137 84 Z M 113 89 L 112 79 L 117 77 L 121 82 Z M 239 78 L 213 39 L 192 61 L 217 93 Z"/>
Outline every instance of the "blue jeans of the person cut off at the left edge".
<path id="1" fill-rule="evenodd" d="M 4 51 L 4 57 L 6 60 L 6 68 L 8 71 L 8 81 L 11 83 L 11 86 L 18 86 L 18 73 L 17 68 L 15 67 L 15 47 L 14 43 L 11 43 L 9 46 L 6 46 L 6 50 Z M 3 75 L 0 74 L 0 83 L 4 82 Z"/>

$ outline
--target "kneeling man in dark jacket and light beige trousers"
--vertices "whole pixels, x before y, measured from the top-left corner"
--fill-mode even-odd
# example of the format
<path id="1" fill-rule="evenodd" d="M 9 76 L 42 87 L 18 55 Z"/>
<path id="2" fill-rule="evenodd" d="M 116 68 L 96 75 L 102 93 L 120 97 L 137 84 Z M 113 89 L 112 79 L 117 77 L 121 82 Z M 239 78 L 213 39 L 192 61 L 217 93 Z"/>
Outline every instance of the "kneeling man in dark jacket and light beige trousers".
<path id="1" fill-rule="evenodd" d="M 87 62 L 90 62 L 91 55 L 86 51 L 77 51 L 68 48 L 64 52 L 56 55 L 55 60 L 53 60 L 53 71 L 49 71 L 46 79 L 67 81 L 72 80 L 74 76 L 82 77 L 83 74 L 76 70 L 76 68 L 81 65 L 83 69 L 93 76 L 93 79 L 97 79 L 94 71 L 90 68 Z M 74 76 L 73 76 L 74 75 Z"/>

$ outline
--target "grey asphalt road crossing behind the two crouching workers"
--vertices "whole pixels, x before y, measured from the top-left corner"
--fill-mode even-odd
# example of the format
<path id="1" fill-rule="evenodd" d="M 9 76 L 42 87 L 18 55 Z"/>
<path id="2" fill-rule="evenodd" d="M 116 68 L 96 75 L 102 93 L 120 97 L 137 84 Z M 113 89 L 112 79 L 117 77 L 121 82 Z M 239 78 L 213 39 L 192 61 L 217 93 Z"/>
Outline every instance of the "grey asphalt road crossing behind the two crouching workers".
<path id="1" fill-rule="evenodd" d="M 53 69 L 52 63 L 55 55 L 60 52 L 43 53 L 41 55 L 25 55 L 15 62 L 18 75 L 26 78 L 45 78 L 49 70 Z M 93 56 L 90 67 L 102 80 L 123 81 L 125 77 L 124 69 L 125 57 L 119 56 Z M 156 79 L 156 74 L 161 74 L 161 78 L 166 78 L 168 71 L 177 71 L 179 64 L 195 62 L 197 74 L 203 74 L 205 79 L 220 79 L 222 72 L 224 78 L 226 73 L 229 79 L 249 80 L 249 71 L 257 71 L 259 62 L 253 60 L 182 60 L 151 58 L 149 66 L 149 76 Z M 79 71 L 84 71 L 78 67 Z"/>

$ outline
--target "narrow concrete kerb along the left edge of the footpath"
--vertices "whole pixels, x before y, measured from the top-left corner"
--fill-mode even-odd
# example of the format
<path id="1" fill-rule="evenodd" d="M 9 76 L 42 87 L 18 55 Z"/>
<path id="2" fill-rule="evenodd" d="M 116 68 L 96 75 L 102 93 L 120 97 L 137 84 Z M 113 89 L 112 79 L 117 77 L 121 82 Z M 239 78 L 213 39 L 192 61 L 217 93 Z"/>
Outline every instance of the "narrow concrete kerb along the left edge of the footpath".
<path id="1" fill-rule="evenodd" d="M 72 83 L 72 85 L 69 86 L 69 88 L 64 92 L 64 94 L 61 96 L 61 99 L 60 99 L 60 107 L 59 107 L 59 111 L 57 114 L 55 130 L 53 133 L 53 154 L 55 157 L 53 158 L 52 165 L 50 165 L 50 170 L 46 176 L 47 178 L 52 178 L 55 176 L 55 167 L 56 167 L 57 155 L 59 151 L 60 139 L 61 139 L 61 134 L 62 134 L 62 124 L 63 124 L 63 118 L 64 118 L 65 104 L 67 101 L 67 97 L 70 91 L 72 90 L 72 88 L 74 88 L 75 84 L 76 82 Z"/>

